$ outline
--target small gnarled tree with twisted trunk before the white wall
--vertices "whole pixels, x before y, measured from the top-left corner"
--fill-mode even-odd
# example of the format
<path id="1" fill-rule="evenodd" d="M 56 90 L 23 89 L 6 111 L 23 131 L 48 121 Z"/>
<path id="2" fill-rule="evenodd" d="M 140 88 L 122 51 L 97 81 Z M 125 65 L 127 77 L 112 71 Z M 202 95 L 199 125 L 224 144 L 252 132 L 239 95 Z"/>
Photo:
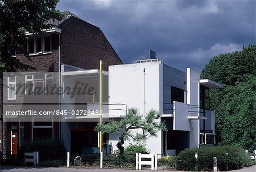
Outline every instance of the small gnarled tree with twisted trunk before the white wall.
<path id="1" fill-rule="evenodd" d="M 159 122 L 161 114 L 156 110 L 148 111 L 145 119 L 137 108 L 131 108 L 128 110 L 125 118 L 120 121 L 110 119 L 108 123 L 98 123 L 94 128 L 96 131 L 102 131 L 102 134 L 108 132 L 119 132 L 122 134 L 119 136 L 117 147 L 120 154 L 123 154 L 123 144 L 125 139 L 133 139 L 137 143 L 142 143 L 148 137 L 156 137 L 160 130 L 166 131 L 166 124 Z M 133 132 L 134 129 L 141 130 L 141 132 Z"/>

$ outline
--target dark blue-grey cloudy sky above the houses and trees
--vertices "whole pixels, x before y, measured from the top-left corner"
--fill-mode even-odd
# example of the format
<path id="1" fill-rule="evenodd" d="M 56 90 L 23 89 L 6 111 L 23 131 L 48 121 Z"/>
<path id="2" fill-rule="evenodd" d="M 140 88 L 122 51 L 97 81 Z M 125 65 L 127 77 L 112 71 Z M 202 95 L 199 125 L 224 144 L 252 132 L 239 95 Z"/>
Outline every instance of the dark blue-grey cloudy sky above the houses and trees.
<path id="1" fill-rule="evenodd" d="M 123 63 L 151 49 L 167 65 L 201 71 L 215 55 L 256 39 L 255 0 L 61 0 L 57 9 L 100 27 Z"/>

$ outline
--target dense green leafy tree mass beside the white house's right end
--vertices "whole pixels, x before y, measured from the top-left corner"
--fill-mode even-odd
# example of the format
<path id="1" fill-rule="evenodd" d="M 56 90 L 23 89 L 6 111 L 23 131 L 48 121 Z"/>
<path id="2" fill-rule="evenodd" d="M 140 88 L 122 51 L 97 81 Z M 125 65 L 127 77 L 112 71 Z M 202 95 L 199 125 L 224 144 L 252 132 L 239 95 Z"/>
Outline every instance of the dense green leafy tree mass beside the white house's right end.
<path id="1" fill-rule="evenodd" d="M 224 85 L 210 92 L 210 106 L 216 110 L 216 141 L 221 144 L 256 145 L 256 45 L 220 54 L 201 72 Z"/>

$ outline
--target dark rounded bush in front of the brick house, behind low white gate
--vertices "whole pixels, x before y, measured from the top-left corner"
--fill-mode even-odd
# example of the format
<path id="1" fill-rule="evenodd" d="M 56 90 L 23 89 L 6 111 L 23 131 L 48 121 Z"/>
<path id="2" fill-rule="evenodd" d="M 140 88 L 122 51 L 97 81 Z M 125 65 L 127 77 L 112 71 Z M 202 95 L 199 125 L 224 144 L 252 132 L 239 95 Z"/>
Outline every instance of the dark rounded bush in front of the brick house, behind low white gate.
<path id="1" fill-rule="evenodd" d="M 47 160 L 64 160 L 67 156 L 62 140 L 38 139 L 24 143 L 19 149 L 19 157 L 24 158 L 25 152 L 39 152 L 39 162 Z"/>

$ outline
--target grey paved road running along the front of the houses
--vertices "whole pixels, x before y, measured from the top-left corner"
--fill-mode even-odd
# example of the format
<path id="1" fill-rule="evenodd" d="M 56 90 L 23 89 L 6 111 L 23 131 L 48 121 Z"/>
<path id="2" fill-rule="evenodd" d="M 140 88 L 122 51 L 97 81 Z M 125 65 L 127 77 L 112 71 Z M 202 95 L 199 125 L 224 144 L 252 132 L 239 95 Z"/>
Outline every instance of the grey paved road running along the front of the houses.
<path id="1" fill-rule="evenodd" d="M 24 167 L 24 166 L 1 166 L 0 167 L 1 172 L 135 172 L 135 170 L 121 170 L 121 169 L 75 169 L 75 168 L 67 168 L 67 167 Z M 140 172 L 148 172 L 150 170 L 140 170 Z M 158 171 L 167 171 L 167 170 L 158 170 Z M 177 172 L 175 170 L 171 170 L 172 172 Z M 240 170 L 233 170 L 229 172 L 255 172 L 256 171 L 256 165 L 245 167 Z M 179 171 L 181 172 L 181 171 Z M 186 171 L 182 171 L 186 172 Z"/>

